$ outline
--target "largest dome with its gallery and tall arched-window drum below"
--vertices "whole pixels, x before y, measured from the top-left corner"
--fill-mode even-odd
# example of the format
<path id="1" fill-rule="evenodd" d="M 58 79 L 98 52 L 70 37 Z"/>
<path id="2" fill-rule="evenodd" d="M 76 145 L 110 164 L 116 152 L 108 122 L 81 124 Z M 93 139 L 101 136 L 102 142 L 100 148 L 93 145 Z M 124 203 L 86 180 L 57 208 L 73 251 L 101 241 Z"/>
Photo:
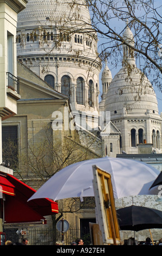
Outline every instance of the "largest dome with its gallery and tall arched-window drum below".
<path id="1" fill-rule="evenodd" d="M 72 110 L 96 111 L 101 70 L 97 33 L 86 1 L 72 2 L 28 0 L 18 14 L 17 59 L 68 96 Z"/>

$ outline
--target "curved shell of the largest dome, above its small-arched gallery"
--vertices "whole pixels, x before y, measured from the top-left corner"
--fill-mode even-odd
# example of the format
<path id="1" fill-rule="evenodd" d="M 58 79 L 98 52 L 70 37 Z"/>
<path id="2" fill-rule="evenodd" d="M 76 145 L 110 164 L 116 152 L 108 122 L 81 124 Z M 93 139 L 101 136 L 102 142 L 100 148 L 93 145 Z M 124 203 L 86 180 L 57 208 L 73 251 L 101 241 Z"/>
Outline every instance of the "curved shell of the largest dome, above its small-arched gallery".
<path id="1" fill-rule="evenodd" d="M 84 4 L 84 0 L 79 0 L 79 5 L 70 4 L 71 0 L 28 0 L 27 8 L 18 14 L 17 29 L 30 28 L 36 26 L 71 26 L 71 22 L 82 26 L 91 23 L 89 10 Z M 82 3 L 83 4 L 80 4 Z M 68 17 L 68 21 L 66 19 Z M 66 25 L 65 25 L 66 22 Z M 76 27 L 77 29 L 77 27 Z"/>

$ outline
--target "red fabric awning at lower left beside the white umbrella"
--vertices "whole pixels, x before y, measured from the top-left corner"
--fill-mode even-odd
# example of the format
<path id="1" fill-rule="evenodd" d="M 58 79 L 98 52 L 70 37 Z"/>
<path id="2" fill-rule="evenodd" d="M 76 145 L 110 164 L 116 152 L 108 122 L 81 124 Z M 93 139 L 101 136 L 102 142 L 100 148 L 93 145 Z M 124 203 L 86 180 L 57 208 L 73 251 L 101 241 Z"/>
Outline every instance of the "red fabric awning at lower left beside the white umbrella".
<path id="1" fill-rule="evenodd" d="M 13 175 L 5 174 L 5 177 L 0 175 L 0 186 L 3 185 L 4 180 L 6 184 L 12 185 L 15 193 L 14 197 L 10 197 L 9 193 L 5 193 L 5 223 L 37 222 L 45 220 L 44 216 L 58 213 L 58 204 L 47 198 L 27 202 L 36 190 L 16 179 Z"/>

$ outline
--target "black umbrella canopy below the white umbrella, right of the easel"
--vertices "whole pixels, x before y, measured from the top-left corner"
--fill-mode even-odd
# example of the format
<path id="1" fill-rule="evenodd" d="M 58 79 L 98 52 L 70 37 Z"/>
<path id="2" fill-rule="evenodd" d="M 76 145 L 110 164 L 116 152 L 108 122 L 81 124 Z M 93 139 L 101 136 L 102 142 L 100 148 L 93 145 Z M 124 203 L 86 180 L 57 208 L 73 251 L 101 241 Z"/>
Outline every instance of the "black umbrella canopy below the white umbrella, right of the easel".
<path id="1" fill-rule="evenodd" d="M 162 211 L 132 205 L 121 208 L 116 212 L 121 230 L 139 231 L 150 228 L 162 228 Z"/>

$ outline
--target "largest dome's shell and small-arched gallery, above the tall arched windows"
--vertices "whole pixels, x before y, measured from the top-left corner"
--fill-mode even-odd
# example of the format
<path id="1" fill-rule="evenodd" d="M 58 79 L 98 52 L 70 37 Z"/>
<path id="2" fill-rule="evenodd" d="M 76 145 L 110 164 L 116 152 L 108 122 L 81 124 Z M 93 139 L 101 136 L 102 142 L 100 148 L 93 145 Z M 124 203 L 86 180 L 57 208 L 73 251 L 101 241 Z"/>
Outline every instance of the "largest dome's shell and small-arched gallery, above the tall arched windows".
<path id="1" fill-rule="evenodd" d="M 18 14 L 18 59 L 55 52 L 61 58 L 66 54 L 97 60 L 98 65 L 97 34 L 89 9 L 85 0 L 77 1 L 72 5 L 71 0 L 28 0 L 27 8 Z"/>

